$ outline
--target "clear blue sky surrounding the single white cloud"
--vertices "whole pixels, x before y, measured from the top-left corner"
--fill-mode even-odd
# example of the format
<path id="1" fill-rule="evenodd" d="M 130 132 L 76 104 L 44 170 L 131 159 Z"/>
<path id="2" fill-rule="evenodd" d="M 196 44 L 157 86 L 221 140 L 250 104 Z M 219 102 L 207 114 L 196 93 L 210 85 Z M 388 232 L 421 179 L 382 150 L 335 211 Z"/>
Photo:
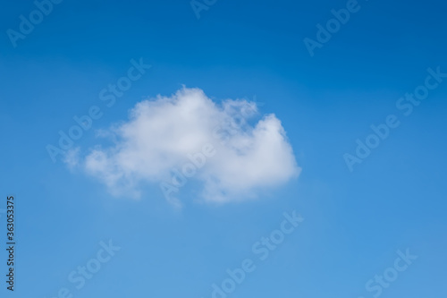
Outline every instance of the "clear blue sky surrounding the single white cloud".
<path id="1" fill-rule="evenodd" d="M 54 298 L 67 288 L 67 297 L 212 297 L 212 285 L 222 286 L 226 270 L 246 259 L 256 269 L 228 297 L 445 296 L 447 80 L 411 115 L 396 102 L 425 84 L 428 68 L 447 72 L 446 6 L 358 5 L 311 56 L 303 39 L 316 40 L 316 25 L 347 1 L 217 0 L 198 19 L 189 1 L 65 0 L 17 47 L 6 32 L 19 31 L 20 16 L 29 18 L 36 5 L 4 2 L 0 209 L 14 195 L 18 244 L 15 293 L 5 289 L 0 253 L 1 296 Z M 99 92 L 126 76 L 132 59 L 151 68 L 106 106 Z M 85 160 L 98 145 L 113 148 L 97 130 L 129 123 L 140 101 L 171 97 L 183 85 L 216 105 L 256 98 L 250 125 L 274 114 L 300 174 L 254 190 L 251 200 L 222 204 L 199 200 L 205 178 L 193 177 L 179 192 L 179 209 L 159 183 L 139 185 L 139 198 L 117 196 L 82 162 L 73 168 L 49 157 L 46 146 L 57 146 L 74 115 L 91 106 L 103 113 L 72 146 Z M 401 124 L 350 171 L 343 156 L 354 156 L 356 140 L 365 142 L 370 125 L 388 115 Z M 304 221 L 260 260 L 253 245 L 293 210 Z M 109 240 L 121 249 L 77 289 L 68 277 Z M 417 260 L 380 294 L 367 291 L 407 249 Z"/>

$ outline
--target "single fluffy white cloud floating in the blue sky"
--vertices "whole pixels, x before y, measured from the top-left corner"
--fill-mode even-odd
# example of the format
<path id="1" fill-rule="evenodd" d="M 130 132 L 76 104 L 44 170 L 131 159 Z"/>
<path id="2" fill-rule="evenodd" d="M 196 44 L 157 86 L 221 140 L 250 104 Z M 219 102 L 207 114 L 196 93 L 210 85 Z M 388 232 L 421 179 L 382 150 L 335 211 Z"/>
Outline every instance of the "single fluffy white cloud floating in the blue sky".
<path id="1" fill-rule="evenodd" d="M 281 122 L 265 115 L 255 125 L 257 105 L 224 100 L 216 105 L 201 89 L 139 102 L 130 120 L 101 132 L 113 140 L 97 146 L 81 164 L 114 195 L 139 197 L 144 183 L 159 183 L 167 200 L 195 180 L 201 199 L 214 202 L 255 198 L 259 190 L 299 175 Z"/>

